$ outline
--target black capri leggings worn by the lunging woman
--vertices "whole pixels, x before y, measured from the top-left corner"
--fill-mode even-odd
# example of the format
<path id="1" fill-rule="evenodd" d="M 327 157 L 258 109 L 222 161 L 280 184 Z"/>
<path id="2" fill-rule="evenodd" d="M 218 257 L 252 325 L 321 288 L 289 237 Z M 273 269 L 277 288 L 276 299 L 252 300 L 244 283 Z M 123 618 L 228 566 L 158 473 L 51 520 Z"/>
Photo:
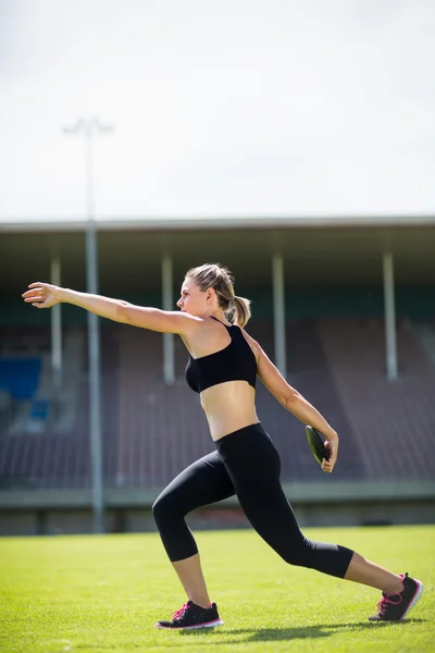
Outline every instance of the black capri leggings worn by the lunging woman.
<path id="1" fill-rule="evenodd" d="M 281 486 L 279 454 L 263 427 L 246 427 L 215 445 L 217 451 L 182 471 L 152 506 L 170 559 L 198 553 L 185 521 L 188 513 L 236 494 L 252 527 L 286 563 L 344 578 L 353 552 L 313 542 L 300 532 Z"/>

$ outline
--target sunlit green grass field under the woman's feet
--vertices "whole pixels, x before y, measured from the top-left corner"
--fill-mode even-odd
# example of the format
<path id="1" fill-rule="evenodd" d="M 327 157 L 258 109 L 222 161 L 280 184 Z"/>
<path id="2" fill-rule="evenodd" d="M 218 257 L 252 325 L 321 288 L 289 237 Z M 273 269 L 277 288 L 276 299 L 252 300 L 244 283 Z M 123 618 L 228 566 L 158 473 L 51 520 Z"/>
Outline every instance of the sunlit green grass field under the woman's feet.
<path id="1" fill-rule="evenodd" d="M 425 591 L 406 621 L 372 624 L 380 592 L 286 565 L 252 531 L 198 532 L 225 625 L 158 630 L 185 597 L 154 534 L 0 540 L 0 651 L 435 651 L 435 527 L 304 529 Z"/>

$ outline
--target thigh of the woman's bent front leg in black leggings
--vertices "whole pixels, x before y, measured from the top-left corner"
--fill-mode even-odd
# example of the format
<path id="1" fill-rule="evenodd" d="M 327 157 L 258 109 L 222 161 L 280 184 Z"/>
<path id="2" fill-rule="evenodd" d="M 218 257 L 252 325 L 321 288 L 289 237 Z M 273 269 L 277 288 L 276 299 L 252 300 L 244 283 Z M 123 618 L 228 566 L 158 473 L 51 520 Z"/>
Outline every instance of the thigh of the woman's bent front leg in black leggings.
<path id="1" fill-rule="evenodd" d="M 176 504 L 185 515 L 235 494 L 233 481 L 217 452 L 212 452 L 186 467 L 163 490 L 157 501 Z"/>

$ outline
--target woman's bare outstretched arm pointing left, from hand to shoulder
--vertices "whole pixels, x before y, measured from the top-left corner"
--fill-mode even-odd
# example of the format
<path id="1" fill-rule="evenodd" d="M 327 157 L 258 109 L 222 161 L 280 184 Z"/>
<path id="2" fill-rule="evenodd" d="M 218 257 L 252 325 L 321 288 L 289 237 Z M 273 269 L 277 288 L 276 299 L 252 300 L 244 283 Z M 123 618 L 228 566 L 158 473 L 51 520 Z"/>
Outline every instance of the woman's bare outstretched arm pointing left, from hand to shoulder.
<path id="1" fill-rule="evenodd" d="M 51 308 L 57 304 L 73 304 L 123 324 L 132 324 L 160 333 L 188 334 L 201 321 L 199 318 L 181 311 L 166 311 L 159 308 L 136 306 L 123 299 L 112 299 L 101 295 L 90 295 L 49 283 L 30 283 L 23 293 L 24 301 L 36 308 Z"/>

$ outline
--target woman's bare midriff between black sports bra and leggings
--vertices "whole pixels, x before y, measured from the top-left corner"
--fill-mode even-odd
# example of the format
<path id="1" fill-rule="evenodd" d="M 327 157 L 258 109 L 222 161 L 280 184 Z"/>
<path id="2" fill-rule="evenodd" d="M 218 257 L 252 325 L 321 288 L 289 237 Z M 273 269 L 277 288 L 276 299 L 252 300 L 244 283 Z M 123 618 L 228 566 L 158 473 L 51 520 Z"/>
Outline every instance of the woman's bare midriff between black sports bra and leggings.
<path id="1" fill-rule="evenodd" d="M 214 441 L 259 422 L 256 391 L 247 381 L 212 385 L 201 392 L 200 398 Z"/>

